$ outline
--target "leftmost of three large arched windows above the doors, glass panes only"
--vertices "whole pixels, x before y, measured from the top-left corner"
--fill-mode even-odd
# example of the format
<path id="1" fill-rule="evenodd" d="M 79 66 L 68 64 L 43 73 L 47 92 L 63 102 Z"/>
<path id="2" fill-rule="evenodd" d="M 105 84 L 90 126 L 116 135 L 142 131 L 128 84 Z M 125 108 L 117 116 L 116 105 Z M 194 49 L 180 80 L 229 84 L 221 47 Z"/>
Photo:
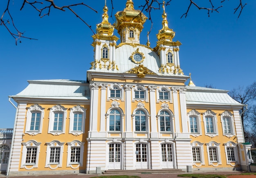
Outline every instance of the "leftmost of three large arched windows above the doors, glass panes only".
<path id="1" fill-rule="evenodd" d="M 120 112 L 116 109 L 110 111 L 109 130 L 121 131 L 121 115 Z"/>

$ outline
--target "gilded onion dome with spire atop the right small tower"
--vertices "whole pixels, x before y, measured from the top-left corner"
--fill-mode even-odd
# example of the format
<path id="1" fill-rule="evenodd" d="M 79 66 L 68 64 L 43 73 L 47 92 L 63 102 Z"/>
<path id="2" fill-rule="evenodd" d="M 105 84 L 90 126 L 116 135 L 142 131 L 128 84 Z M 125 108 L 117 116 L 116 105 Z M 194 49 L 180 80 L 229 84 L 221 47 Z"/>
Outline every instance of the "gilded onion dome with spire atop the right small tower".
<path id="1" fill-rule="evenodd" d="M 164 3 L 163 3 L 163 9 L 164 9 Z M 165 39 L 165 40 L 173 41 L 175 32 L 173 31 L 173 29 L 169 29 L 168 27 L 167 14 L 165 13 L 165 9 L 164 9 L 164 13 L 162 14 L 162 18 L 163 18 L 163 21 L 162 21 L 163 28 L 158 32 L 157 40 Z"/>

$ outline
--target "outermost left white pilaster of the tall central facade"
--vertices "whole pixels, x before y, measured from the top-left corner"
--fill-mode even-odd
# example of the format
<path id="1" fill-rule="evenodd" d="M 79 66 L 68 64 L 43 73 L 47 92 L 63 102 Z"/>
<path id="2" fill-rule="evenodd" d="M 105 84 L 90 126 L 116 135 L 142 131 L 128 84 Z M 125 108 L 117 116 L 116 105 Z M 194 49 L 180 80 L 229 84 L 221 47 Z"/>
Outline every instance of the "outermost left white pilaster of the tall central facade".
<path id="1" fill-rule="evenodd" d="M 91 89 L 91 98 L 90 98 L 90 125 L 88 137 L 95 137 L 97 134 L 97 125 L 98 125 L 98 99 L 99 99 L 99 86 L 100 84 L 90 83 Z"/>

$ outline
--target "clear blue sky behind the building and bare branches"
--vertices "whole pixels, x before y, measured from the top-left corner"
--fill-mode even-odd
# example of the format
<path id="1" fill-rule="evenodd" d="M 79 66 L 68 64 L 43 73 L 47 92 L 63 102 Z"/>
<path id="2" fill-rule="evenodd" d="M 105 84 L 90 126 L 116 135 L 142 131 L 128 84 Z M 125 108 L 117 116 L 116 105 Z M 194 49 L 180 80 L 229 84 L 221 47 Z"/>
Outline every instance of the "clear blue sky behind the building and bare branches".
<path id="1" fill-rule="evenodd" d="M 0 14 L 6 2 L 0 1 Z M 74 8 L 94 31 L 96 24 L 102 20 L 105 0 L 95 2 L 84 1 L 98 13 L 86 7 Z M 135 9 L 139 9 L 141 0 L 134 2 Z M 213 85 L 218 89 L 231 90 L 250 85 L 256 80 L 256 1 L 244 2 L 247 5 L 239 19 L 238 13 L 234 14 L 238 0 L 224 2 L 220 13 L 210 13 L 210 17 L 207 11 L 191 7 L 187 18 L 180 19 L 186 12 L 189 0 L 173 0 L 166 7 L 168 25 L 176 32 L 173 40 L 182 43 L 181 69 L 185 75 L 191 72 L 196 86 Z M 16 109 L 8 101 L 8 96 L 25 89 L 27 80 L 86 80 L 86 71 L 93 61 L 93 33 L 81 20 L 68 11 L 55 9 L 52 9 L 50 16 L 40 18 L 28 5 L 20 11 L 20 3 L 13 0 L 9 8 L 16 27 L 25 31 L 25 36 L 38 40 L 22 39 L 16 46 L 8 31 L 0 26 L 0 128 L 13 128 Z M 115 14 L 124 9 L 126 0 L 113 0 L 113 3 Z M 107 0 L 107 6 L 111 9 L 110 0 Z M 110 13 L 109 10 L 109 16 Z M 162 9 L 153 10 L 151 16 L 153 29 L 149 36 L 150 47 L 155 47 L 156 34 L 162 28 Z M 109 18 L 109 21 L 114 23 L 115 19 Z M 141 44 L 146 44 L 150 26 L 151 22 L 147 21 L 141 32 Z M 116 30 L 114 34 L 119 36 Z"/>

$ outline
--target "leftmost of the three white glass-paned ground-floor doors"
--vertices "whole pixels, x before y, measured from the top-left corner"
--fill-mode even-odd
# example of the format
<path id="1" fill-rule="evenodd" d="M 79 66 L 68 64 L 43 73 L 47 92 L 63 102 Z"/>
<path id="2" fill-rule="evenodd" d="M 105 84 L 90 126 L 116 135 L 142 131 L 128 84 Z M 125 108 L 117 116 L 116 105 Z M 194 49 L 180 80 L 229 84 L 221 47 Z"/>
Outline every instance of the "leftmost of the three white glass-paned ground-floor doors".
<path id="1" fill-rule="evenodd" d="M 112 143 L 109 145 L 108 169 L 121 169 L 121 145 Z"/>

